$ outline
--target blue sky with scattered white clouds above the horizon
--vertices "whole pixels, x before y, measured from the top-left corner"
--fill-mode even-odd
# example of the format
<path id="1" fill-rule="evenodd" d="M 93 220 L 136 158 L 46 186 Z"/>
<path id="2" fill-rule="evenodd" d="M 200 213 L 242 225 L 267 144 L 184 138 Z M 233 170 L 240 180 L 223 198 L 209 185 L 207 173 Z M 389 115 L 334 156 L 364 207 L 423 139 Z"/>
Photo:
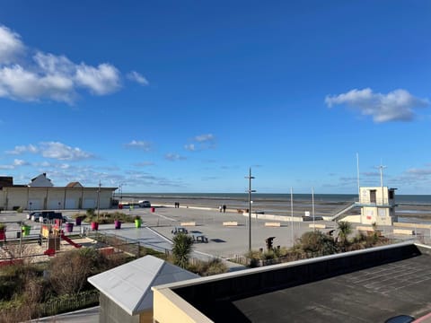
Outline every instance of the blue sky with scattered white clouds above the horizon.
<path id="1" fill-rule="evenodd" d="M 428 1 L 0 4 L 0 174 L 431 194 Z"/>

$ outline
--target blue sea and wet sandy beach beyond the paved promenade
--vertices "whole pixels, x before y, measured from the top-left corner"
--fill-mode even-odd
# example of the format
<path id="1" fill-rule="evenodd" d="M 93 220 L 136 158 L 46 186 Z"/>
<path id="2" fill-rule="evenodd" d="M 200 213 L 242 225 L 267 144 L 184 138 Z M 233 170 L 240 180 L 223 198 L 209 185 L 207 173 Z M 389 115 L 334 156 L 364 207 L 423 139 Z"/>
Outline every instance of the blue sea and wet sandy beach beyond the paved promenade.
<path id="1" fill-rule="evenodd" d="M 218 208 L 226 205 L 228 209 L 290 216 L 303 216 L 305 213 L 316 216 L 333 215 L 346 205 L 358 201 L 356 194 L 269 194 L 251 193 L 122 193 L 114 195 L 122 202 L 137 203 L 148 200 L 153 205 L 194 205 Z M 431 223 L 431 195 L 396 195 L 396 212 L 399 222 Z M 357 208 L 356 212 L 360 213 Z"/>

